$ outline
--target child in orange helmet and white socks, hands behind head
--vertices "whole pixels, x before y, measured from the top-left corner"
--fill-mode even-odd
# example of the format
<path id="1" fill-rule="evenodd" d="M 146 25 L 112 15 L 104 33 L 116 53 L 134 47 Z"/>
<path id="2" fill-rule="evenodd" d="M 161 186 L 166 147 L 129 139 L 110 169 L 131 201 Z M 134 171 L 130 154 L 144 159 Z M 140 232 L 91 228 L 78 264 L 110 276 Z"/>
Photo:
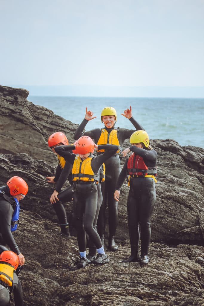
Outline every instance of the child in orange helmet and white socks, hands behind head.
<path id="1" fill-rule="evenodd" d="M 103 154 L 94 156 L 94 148 L 106 150 Z M 70 152 L 76 149 L 76 154 Z M 109 261 L 97 231 L 93 227 L 98 200 L 97 183 L 99 181 L 99 168 L 118 150 L 117 145 L 96 145 L 88 136 L 80 137 L 76 145 L 64 145 L 55 148 L 57 154 L 69 161 L 72 166 L 72 181 L 74 186 L 74 224 L 77 231 L 77 241 L 80 251 L 80 262 L 77 267 L 85 267 L 86 258 L 86 232 L 93 241 L 98 255 L 93 263 L 107 263 Z"/>

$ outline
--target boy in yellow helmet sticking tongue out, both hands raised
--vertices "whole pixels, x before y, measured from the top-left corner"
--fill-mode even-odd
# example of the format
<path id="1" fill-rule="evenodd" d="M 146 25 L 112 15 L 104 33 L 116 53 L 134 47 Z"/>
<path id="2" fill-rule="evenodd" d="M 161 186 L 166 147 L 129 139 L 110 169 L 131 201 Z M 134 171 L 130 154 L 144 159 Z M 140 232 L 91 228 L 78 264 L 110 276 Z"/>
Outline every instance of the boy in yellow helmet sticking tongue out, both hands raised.
<path id="1" fill-rule="evenodd" d="M 143 127 L 139 125 L 135 119 L 132 117 L 132 109 L 130 106 L 130 109 L 124 110 L 123 115 L 125 118 L 128 118 L 130 122 L 134 125 L 136 130 L 142 130 Z M 118 146 L 122 146 L 124 143 L 124 140 L 127 138 L 130 138 L 131 134 L 135 130 L 129 130 L 124 128 L 115 128 L 115 122 L 117 121 L 117 114 L 116 110 L 113 107 L 105 107 L 103 108 L 101 112 L 101 121 L 105 125 L 104 128 L 100 129 L 92 129 L 91 131 L 83 132 L 85 126 L 87 125 L 88 121 L 94 119 L 96 117 L 93 116 L 93 112 L 90 110 L 87 111 L 86 108 L 86 114 L 85 118 L 83 119 L 82 123 L 77 128 L 74 139 L 78 139 L 80 136 L 89 136 L 91 137 L 96 144 L 115 144 Z M 103 153 L 104 150 L 98 150 L 97 155 L 100 155 Z M 108 209 L 109 209 L 109 249 L 111 251 L 116 251 L 118 249 L 118 246 L 114 240 L 115 233 L 117 229 L 118 224 L 118 212 L 117 212 L 117 201 L 114 200 L 114 191 L 116 189 L 116 182 L 117 178 L 120 174 L 121 168 L 120 168 L 120 149 L 111 156 L 108 160 L 105 162 L 106 166 L 106 180 L 105 182 L 101 183 L 101 189 L 102 189 L 102 196 L 103 196 L 103 202 L 101 205 L 101 209 L 98 216 L 98 222 L 97 222 L 97 231 L 101 237 L 102 244 L 104 245 L 104 234 L 105 234 L 105 211 L 106 211 L 106 202 L 108 203 Z"/>

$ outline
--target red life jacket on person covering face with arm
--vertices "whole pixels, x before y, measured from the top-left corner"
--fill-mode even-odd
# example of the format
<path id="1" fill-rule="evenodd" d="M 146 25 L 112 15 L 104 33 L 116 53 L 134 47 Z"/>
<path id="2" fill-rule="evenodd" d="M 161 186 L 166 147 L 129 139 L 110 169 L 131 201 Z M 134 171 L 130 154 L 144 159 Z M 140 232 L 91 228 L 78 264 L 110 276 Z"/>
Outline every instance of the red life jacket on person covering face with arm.
<path id="1" fill-rule="evenodd" d="M 147 167 L 143 158 L 139 155 L 136 155 L 132 152 L 128 159 L 127 165 L 127 172 L 128 175 L 138 175 L 138 176 L 145 176 L 145 175 L 157 175 L 157 167 Z"/>

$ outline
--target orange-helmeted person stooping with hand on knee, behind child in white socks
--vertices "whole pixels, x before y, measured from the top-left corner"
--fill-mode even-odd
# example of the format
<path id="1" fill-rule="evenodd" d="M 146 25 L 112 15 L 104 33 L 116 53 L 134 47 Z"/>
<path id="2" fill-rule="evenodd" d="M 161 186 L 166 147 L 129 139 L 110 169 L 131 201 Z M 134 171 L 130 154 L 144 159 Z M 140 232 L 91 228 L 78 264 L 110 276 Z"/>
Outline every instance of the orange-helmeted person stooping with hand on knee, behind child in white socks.
<path id="1" fill-rule="evenodd" d="M 54 154 L 57 154 L 55 151 L 55 147 L 61 146 L 63 144 L 68 145 L 69 142 L 65 134 L 62 132 L 55 132 L 48 138 L 48 146 L 52 149 Z M 70 202 L 72 200 L 73 186 L 72 179 L 69 177 L 72 165 L 69 162 L 66 162 L 65 159 L 59 155 L 57 155 L 57 158 L 58 165 L 56 168 L 55 176 L 47 176 L 46 180 L 48 183 L 55 184 L 54 192 L 50 196 L 50 203 L 53 204 L 54 211 L 60 222 L 60 235 L 65 236 L 69 239 L 69 222 L 67 221 L 67 214 L 65 211 L 65 207 L 62 203 Z M 61 188 L 67 178 L 71 185 L 61 191 Z"/>

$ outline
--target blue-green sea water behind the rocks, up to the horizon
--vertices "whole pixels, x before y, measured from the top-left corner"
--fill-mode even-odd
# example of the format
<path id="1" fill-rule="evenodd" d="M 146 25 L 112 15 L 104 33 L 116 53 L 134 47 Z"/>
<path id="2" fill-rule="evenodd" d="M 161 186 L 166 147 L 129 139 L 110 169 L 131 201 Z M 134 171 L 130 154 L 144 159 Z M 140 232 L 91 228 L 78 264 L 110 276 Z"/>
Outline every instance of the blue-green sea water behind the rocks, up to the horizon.
<path id="1" fill-rule="evenodd" d="M 86 130 L 103 127 L 101 110 L 112 106 L 117 111 L 115 126 L 134 129 L 121 115 L 132 107 L 132 115 L 147 131 L 150 139 L 174 139 L 181 146 L 204 148 L 204 99 L 186 98 L 104 98 L 28 96 L 36 105 L 45 106 L 73 123 L 80 124 L 86 107 L 97 118 L 89 121 Z M 57 132 L 57 131 L 53 131 Z M 63 131 L 61 131 L 63 132 Z"/>

